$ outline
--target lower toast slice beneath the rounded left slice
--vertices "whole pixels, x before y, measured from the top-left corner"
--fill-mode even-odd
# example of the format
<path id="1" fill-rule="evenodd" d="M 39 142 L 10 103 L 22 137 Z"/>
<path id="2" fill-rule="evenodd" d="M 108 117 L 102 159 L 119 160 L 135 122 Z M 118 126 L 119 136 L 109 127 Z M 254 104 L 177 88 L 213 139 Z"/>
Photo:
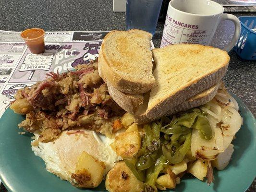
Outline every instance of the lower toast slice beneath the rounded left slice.
<path id="1" fill-rule="evenodd" d="M 122 93 L 121 91 L 116 89 L 102 74 L 101 65 L 98 65 L 98 73 L 99 76 L 103 79 L 103 81 L 107 84 L 109 94 L 113 98 L 113 100 L 123 110 L 134 115 L 139 106 L 143 103 L 143 95 Z"/>

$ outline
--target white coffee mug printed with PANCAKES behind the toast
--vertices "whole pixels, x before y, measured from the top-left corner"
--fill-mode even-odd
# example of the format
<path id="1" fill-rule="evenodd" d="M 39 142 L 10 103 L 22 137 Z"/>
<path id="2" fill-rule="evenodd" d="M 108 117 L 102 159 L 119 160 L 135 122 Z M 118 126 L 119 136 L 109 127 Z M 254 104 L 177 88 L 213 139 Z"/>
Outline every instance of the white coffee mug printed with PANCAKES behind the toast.
<path id="1" fill-rule="evenodd" d="M 235 33 L 223 49 L 229 52 L 239 39 L 241 24 L 236 16 L 223 12 L 224 8 L 211 0 L 171 0 L 160 47 L 180 43 L 210 45 L 218 24 L 231 20 Z"/>

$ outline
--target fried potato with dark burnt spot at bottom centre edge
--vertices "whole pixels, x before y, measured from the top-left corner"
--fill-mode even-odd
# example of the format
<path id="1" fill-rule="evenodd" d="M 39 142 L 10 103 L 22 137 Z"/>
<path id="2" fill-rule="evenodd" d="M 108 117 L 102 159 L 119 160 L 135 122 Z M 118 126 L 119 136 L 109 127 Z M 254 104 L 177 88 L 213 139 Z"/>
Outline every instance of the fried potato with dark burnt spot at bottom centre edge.
<path id="1" fill-rule="evenodd" d="M 109 192 L 143 192 L 144 183 L 137 180 L 125 163 L 120 161 L 107 174 L 106 189 Z"/>

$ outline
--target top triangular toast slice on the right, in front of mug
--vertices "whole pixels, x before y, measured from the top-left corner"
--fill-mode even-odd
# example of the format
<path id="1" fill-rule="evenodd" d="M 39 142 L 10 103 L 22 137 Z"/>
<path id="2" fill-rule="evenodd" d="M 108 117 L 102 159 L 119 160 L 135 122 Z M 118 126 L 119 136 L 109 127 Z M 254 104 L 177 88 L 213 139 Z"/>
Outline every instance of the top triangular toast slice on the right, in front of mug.
<path id="1" fill-rule="evenodd" d="M 153 49 L 156 83 L 151 89 L 146 116 L 156 119 L 170 108 L 217 84 L 230 57 L 219 48 L 180 44 Z"/>

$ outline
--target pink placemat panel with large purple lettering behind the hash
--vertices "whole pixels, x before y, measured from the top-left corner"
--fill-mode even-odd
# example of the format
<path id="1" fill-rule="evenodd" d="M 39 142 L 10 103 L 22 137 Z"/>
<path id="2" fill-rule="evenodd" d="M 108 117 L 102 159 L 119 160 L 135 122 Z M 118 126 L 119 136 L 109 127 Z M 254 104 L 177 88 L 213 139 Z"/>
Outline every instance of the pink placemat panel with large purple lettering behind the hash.
<path id="1" fill-rule="evenodd" d="M 98 53 L 98 48 L 100 47 L 100 41 L 90 42 L 89 44 L 91 45 L 86 43 L 87 42 L 46 43 L 46 46 L 48 46 L 47 48 L 49 49 L 46 49 L 45 53 L 51 53 L 52 55 L 54 54 L 51 63 L 49 63 L 48 60 L 45 60 L 42 58 L 44 61 L 40 59 L 39 62 L 26 62 L 26 63 L 30 63 L 29 66 L 24 65 L 25 58 L 28 59 L 28 57 L 26 56 L 31 53 L 30 50 L 27 48 L 22 58 L 19 59 L 20 61 L 17 67 L 14 69 L 14 72 L 12 73 L 12 77 L 10 78 L 9 83 L 31 83 L 31 82 L 43 81 L 45 79 L 46 73 L 48 72 L 58 71 L 59 73 L 61 73 L 61 72 L 67 72 L 67 71 L 73 70 L 72 63 L 74 63 L 74 60 L 76 60 L 77 58 L 82 58 L 84 62 L 84 57 L 86 57 L 89 54 L 93 56 L 93 58 L 91 57 L 91 59 L 98 57 L 97 53 Z M 91 49 L 88 50 L 90 46 L 91 46 Z M 89 54 L 86 55 L 86 53 L 89 53 Z M 93 55 L 93 54 L 96 54 L 96 55 Z M 15 59 L 13 60 L 14 62 L 16 62 Z M 35 58 L 35 61 L 36 60 L 38 59 Z M 36 65 L 35 63 L 37 63 L 38 65 Z M 21 67 L 21 65 L 23 65 L 23 67 Z M 42 66 L 42 65 L 50 66 L 49 71 L 35 70 L 35 67 L 38 68 L 39 66 Z M 20 68 L 22 69 L 25 68 L 25 69 L 20 70 Z M 29 71 L 26 71 L 26 70 L 29 70 Z M 33 70 L 35 70 L 35 72 L 33 75 L 31 75 L 31 72 Z M 31 80 L 28 80 L 30 79 L 30 76 L 31 76 Z"/>

